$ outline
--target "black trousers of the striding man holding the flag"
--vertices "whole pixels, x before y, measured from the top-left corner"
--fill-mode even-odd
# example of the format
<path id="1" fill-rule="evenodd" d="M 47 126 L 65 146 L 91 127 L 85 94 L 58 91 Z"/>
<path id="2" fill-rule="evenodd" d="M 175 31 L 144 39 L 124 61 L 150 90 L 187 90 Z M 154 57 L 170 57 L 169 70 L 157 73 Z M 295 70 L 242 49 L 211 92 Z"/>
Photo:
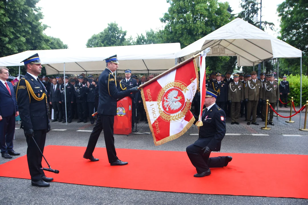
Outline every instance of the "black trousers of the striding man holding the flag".
<path id="1" fill-rule="evenodd" d="M 109 163 L 113 163 L 118 160 L 115 152 L 115 139 L 113 137 L 113 123 L 114 123 L 114 116 L 113 115 L 101 115 L 98 114 L 95 127 L 93 128 L 86 152 L 84 155 L 86 157 L 91 157 L 93 155 L 94 148 L 96 146 L 97 140 L 99 138 L 100 133 L 104 130 L 104 138 L 105 138 L 105 145 L 107 150 L 107 156 Z"/>

